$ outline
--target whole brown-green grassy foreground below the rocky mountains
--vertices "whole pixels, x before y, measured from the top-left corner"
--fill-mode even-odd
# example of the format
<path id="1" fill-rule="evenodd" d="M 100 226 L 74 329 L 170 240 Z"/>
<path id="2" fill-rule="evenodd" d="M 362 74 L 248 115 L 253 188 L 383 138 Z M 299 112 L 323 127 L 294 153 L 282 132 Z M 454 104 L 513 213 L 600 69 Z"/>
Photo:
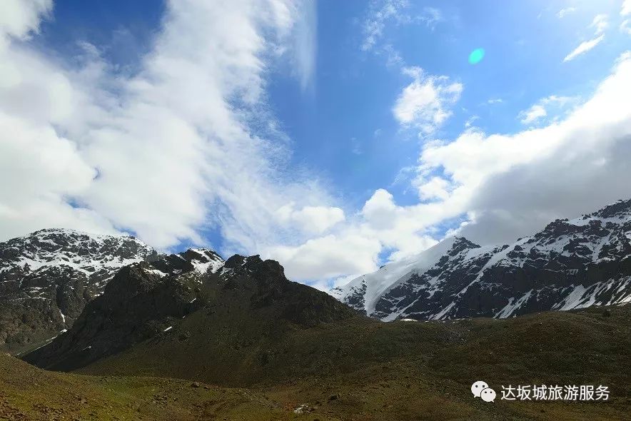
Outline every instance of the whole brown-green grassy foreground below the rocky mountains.
<path id="1" fill-rule="evenodd" d="M 356 318 L 282 331 L 248 330 L 236 317 L 240 333 L 229 324 L 211 329 L 211 310 L 198 311 L 81 375 L 2 356 L 0 419 L 626 420 L 630 310 L 445 323 Z M 498 392 L 495 402 L 471 396 L 480 379 Z M 500 400 L 500 385 L 532 382 L 608 385 L 611 397 Z"/>

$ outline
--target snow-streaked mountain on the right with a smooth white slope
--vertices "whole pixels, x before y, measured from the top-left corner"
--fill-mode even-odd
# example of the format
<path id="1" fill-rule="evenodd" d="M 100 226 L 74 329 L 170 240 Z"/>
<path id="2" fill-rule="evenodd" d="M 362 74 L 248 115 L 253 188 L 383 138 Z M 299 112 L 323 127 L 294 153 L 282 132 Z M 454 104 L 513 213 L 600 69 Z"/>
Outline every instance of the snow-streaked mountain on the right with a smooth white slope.
<path id="1" fill-rule="evenodd" d="M 631 200 L 513 244 L 447 238 L 331 295 L 382 320 L 508 318 L 631 301 Z"/>

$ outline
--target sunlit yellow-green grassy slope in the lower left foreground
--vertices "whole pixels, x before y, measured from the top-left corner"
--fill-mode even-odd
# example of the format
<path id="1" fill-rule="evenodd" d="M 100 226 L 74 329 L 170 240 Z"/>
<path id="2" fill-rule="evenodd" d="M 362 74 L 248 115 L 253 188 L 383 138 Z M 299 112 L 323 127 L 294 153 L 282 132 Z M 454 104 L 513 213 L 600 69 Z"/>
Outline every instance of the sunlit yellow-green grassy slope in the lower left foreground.
<path id="1" fill-rule="evenodd" d="M 0 355 L 0 420 L 200 419 L 294 420 L 296 414 L 255 390 L 49 372 Z"/>

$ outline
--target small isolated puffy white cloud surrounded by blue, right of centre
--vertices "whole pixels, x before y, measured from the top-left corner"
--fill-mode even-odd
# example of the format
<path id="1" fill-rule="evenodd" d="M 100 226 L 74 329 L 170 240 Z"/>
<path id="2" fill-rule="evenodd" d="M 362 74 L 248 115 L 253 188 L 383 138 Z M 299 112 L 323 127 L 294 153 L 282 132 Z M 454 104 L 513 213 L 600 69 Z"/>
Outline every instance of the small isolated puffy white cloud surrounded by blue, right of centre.
<path id="1" fill-rule="evenodd" d="M 394 116 L 404 126 L 432 133 L 451 116 L 449 107 L 460 98 L 463 85 L 447 76 L 425 75 L 419 67 L 406 67 L 403 73 L 413 81 L 398 96 Z"/>

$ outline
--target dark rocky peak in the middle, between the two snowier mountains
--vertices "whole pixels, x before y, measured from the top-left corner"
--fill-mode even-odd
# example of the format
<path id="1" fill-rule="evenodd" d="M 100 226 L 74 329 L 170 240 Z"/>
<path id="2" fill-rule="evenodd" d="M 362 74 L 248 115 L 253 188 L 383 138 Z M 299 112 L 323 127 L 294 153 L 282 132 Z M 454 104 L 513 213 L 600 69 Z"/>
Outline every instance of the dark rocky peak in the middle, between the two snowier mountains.
<path id="1" fill-rule="evenodd" d="M 193 255 L 190 250 L 184 254 Z M 288 324 L 306 327 L 356 317 L 326 293 L 287 280 L 283 267 L 273 260 L 234 255 L 200 273 L 183 255 L 121 269 L 68 332 L 24 360 L 44 368 L 73 370 L 161 333 L 179 332 L 178 342 L 185 341 L 191 333 L 173 326 L 193 313 L 208 315 L 212 330 L 246 321 L 233 332 L 240 341 L 248 329 L 259 335 Z M 180 355 L 185 360 L 190 357 Z"/>

